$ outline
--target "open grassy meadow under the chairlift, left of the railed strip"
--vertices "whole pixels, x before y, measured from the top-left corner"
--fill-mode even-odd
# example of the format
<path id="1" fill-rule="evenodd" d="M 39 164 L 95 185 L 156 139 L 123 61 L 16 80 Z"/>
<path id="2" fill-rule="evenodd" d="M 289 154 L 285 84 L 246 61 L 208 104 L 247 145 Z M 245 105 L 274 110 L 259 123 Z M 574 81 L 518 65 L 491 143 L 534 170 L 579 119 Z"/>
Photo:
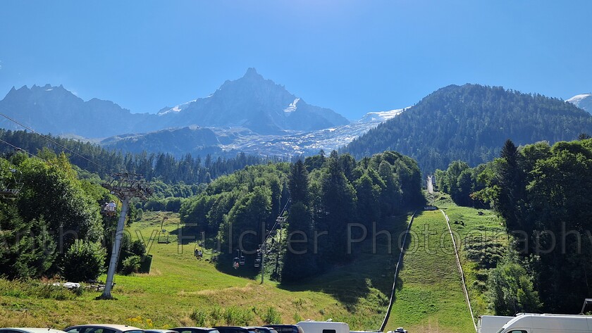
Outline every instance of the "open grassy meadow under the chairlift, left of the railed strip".
<path id="1" fill-rule="evenodd" d="M 39 282 L 9 282 L 0 279 L 0 327 L 37 326 L 64 328 L 89 322 L 130 324 L 142 328 L 177 325 L 257 325 L 266 322 L 344 320 L 352 329 L 378 329 L 388 306 L 390 279 L 394 263 L 386 242 L 352 244 L 359 260 L 303 282 L 283 286 L 266 279 L 247 279 L 224 274 L 211 263 L 193 256 L 195 245 L 181 246 L 173 237 L 178 216 L 171 213 L 146 213 L 128 231 L 133 237 L 149 241 L 153 231 L 164 227 L 171 231 L 170 244 L 148 243 L 153 255 L 149 274 L 116 275 L 113 296 L 116 301 L 96 301 L 97 291 L 76 296 L 70 291 L 54 290 Z M 404 230 L 407 215 L 378 223 L 378 230 L 395 234 Z M 396 236 L 393 248 L 396 248 Z M 390 264 L 389 264 L 390 263 Z M 228 263 L 231 265 L 231 263 Z M 101 277 L 104 281 L 105 276 Z"/>

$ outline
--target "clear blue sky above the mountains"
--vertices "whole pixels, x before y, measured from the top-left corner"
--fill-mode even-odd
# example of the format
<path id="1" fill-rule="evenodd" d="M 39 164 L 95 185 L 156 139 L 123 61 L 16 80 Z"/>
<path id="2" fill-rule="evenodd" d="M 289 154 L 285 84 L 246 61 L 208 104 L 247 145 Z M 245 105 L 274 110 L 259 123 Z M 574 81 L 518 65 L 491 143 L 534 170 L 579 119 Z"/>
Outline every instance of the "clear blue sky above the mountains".
<path id="1" fill-rule="evenodd" d="M 134 113 L 254 67 L 350 119 L 448 84 L 592 91 L 592 1 L 1 1 L 0 98 L 63 84 Z"/>

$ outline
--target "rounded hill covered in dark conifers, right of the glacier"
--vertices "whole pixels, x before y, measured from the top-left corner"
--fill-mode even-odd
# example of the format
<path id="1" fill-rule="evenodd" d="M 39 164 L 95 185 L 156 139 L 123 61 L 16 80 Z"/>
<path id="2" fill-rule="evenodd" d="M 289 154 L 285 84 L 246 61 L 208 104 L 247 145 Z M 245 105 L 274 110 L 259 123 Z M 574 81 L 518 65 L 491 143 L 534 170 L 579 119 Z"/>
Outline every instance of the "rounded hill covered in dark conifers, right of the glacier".
<path id="1" fill-rule="evenodd" d="M 415 158 L 421 169 L 445 169 L 457 159 L 491 161 L 506 139 L 557 142 L 592 133 L 592 116 L 572 103 L 502 87 L 451 85 L 383 122 L 345 151 L 369 156 L 387 149 Z"/>

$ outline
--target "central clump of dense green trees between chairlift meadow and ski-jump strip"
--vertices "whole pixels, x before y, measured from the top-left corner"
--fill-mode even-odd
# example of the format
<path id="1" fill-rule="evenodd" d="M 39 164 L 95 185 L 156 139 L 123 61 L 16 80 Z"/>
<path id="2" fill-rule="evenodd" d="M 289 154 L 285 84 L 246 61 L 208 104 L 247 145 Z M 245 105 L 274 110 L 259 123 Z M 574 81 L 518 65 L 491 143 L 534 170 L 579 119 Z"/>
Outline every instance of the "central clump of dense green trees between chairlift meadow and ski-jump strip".
<path id="1" fill-rule="evenodd" d="M 352 223 L 371 232 L 380 218 L 424 203 L 419 168 L 411 158 L 387 151 L 355 161 L 333 151 L 328 157 L 254 165 L 220 177 L 183 203 L 180 219 L 193 225 L 185 233 L 217 235 L 224 268 L 235 249 L 254 256 L 288 200 L 287 234 L 294 239 L 283 258 L 280 278 L 285 283 L 352 260 L 347 250 Z"/>

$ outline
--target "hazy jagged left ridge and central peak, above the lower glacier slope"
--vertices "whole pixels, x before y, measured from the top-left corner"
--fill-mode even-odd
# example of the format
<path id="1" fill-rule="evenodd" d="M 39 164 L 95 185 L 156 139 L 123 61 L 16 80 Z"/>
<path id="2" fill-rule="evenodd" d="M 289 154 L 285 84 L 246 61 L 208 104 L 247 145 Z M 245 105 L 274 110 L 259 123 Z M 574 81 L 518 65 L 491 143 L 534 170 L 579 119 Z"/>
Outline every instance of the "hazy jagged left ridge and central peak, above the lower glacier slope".
<path id="1" fill-rule="evenodd" d="M 348 124 L 328 108 L 312 106 L 285 87 L 266 80 L 249 68 L 238 80 L 227 80 L 205 98 L 163 108 L 157 115 L 131 113 L 101 99 L 83 101 L 63 86 L 14 87 L 0 101 L 0 112 L 43 133 L 104 138 L 118 134 L 152 132 L 170 127 L 243 127 L 257 134 L 321 130 Z M 0 120 L 11 130 L 23 127 Z"/>

